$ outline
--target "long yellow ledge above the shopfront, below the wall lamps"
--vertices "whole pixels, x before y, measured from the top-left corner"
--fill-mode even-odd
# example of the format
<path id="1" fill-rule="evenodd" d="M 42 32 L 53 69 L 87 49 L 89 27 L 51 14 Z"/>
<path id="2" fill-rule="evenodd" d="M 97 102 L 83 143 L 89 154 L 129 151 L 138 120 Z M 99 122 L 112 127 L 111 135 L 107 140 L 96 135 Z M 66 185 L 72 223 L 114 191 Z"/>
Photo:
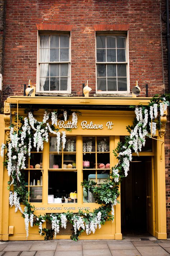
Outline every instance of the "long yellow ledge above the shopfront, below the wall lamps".
<path id="1" fill-rule="evenodd" d="M 28 97 L 28 96 L 10 96 L 5 101 L 5 109 L 8 110 L 8 105 L 15 107 L 17 104 L 25 107 L 27 105 L 38 105 L 38 108 L 50 108 L 56 105 L 56 108 L 62 105 L 62 108 L 74 109 L 119 109 L 129 108 L 130 105 L 148 105 L 151 98 L 146 97 Z M 53 106 L 54 107 L 54 106 Z M 8 112 L 8 111 L 7 111 Z"/>

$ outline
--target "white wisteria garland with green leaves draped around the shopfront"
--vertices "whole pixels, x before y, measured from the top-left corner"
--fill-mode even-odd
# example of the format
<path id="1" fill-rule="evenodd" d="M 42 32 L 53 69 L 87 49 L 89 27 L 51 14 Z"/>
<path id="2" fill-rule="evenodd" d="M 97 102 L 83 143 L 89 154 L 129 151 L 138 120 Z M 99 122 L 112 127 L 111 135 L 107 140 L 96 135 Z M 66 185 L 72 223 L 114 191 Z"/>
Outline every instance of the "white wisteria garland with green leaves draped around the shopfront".
<path id="1" fill-rule="evenodd" d="M 11 180 L 8 182 L 8 189 L 11 185 L 14 185 L 14 191 L 9 192 L 9 204 L 15 206 L 15 212 L 20 210 L 23 214 L 25 221 L 26 235 L 28 237 L 29 223 L 38 225 L 40 235 L 45 235 L 44 239 L 52 239 L 53 232 L 56 237 L 57 233 L 61 228 L 66 228 L 66 224 L 69 221 L 73 225 L 73 234 L 71 239 L 77 241 L 81 232 L 86 231 L 86 234 L 91 232 L 95 233 L 97 227 L 101 227 L 106 220 L 114 219 L 114 206 L 119 203 L 119 184 L 121 180 L 128 175 L 129 163 L 132 161 L 132 151 L 138 154 L 141 151 L 142 146 L 145 145 L 146 136 L 156 134 L 156 129 L 159 127 L 159 122 L 156 121 L 158 113 L 163 116 L 166 111 L 170 96 L 169 95 L 156 95 L 151 99 L 148 106 L 140 106 L 135 108 L 136 118 L 132 126 L 128 126 L 130 136 L 126 136 L 124 143 L 118 143 L 118 146 L 113 150 L 114 155 L 118 158 L 118 164 L 112 167 L 112 173 L 110 179 L 101 184 L 100 187 L 96 186 L 94 181 L 84 180 L 81 185 L 85 187 L 86 191 L 93 193 L 96 203 L 102 204 L 98 209 L 93 212 L 79 211 L 77 213 L 66 212 L 66 213 L 55 213 L 50 215 L 39 215 L 34 214 L 34 207 L 28 202 L 28 192 L 25 189 L 25 181 L 21 175 L 20 170 L 25 169 L 25 157 L 32 148 L 32 143 L 37 152 L 39 149 L 43 150 L 43 143 L 48 142 L 48 133 L 56 135 L 57 138 L 57 151 L 60 150 L 60 142 L 62 141 L 62 147 L 65 148 L 66 134 L 65 131 L 60 133 L 56 129 L 58 119 L 68 120 L 70 114 L 72 114 L 72 123 L 77 123 L 76 112 L 67 112 L 64 110 L 53 111 L 49 113 L 45 111 L 43 121 L 39 122 L 33 116 L 32 112 L 28 113 L 28 117 L 18 117 L 20 127 L 18 133 L 14 129 L 14 125 L 11 125 L 10 138 L 1 146 L 1 156 L 3 156 L 4 149 L 6 152 L 6 161 L 4 162 L 8 175 Z M 50 123 L 51 118 L 51 125 Z M 55 126 L 54 126 L 55 125 Z M 84 149 L 85 149 L 84 145 Z M 100 150 L 105 150 L 105 141 L 101 141 L 99 145 Z M 88 144 L 88 148 L 91 148 L 91 144 Z M 68 151 L 74 150 L 74 141 L 68 140 L 67 142 Z M 83 149 L 83 150 L 84 150 Z M 84 150 L 85 152 L 86 150 Z M 20 201 L 24 204 L 24 212 L 20 206 Z M 112 212 L 112 214 L 110 214 Z M 49 221 L 52 225 L 51 229 L 43 228 L 42 224 L 45 221 Z"/>

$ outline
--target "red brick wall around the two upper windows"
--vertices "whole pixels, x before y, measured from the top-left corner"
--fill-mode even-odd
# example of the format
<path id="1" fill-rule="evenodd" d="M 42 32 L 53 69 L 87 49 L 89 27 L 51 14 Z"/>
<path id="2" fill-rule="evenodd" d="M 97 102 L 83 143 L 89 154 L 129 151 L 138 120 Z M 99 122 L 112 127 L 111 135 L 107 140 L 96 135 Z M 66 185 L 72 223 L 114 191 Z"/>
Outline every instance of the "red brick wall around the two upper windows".
<path id="1" fill-rule="evenodd" d="M 95 94 L 95 31 L 128 31 L 130 88 L 140 96 L 168 93 L 165 0 L 6 0 L 3 100 L 36 84 L 37 31 L 71 32 L 71 93 L 82 96 L 89 80 Z M 165 32 L 164 32 L 165 31 Z M 163 60 L 163 62 L 162 62 Z M 170 234 L 170 127 L 166 134 L 167 232 Z"/>

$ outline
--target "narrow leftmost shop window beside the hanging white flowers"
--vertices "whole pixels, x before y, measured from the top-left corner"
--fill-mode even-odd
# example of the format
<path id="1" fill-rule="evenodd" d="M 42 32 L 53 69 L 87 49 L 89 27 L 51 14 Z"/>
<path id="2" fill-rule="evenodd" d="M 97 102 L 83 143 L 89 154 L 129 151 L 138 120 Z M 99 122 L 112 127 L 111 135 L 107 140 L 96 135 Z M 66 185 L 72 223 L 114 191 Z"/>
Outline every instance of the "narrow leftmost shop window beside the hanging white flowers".
<path id="1" fill-rule="evenodd" d="M 42 203 L 43 153 L 31 152 L 26 159 L 26 169 L 22 171 L 25 187 L 29 191 L 29 202 Z"/>

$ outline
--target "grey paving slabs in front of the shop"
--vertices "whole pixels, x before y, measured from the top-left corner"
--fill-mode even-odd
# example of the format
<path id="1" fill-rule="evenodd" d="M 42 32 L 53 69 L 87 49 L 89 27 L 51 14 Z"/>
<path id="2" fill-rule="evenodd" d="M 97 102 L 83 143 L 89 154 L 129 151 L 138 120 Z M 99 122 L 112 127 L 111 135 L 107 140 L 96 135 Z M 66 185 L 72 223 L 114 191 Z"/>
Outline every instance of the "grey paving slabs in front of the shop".
<path id="1" fill-rule="evenodd" d="M 0 256 L 167 256 L 170 239 L 126 237 L 123 240 L 0 242 Z"/>

